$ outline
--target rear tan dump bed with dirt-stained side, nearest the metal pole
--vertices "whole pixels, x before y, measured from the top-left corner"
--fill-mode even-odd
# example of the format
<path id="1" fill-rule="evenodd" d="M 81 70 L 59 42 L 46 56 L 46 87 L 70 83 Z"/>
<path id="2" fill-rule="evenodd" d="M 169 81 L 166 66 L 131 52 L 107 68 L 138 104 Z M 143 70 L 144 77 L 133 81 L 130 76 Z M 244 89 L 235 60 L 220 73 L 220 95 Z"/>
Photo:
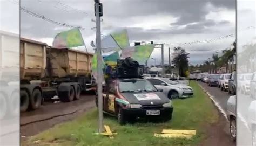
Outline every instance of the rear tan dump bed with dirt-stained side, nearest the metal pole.
<path id="1" fill-rule="evenodd" d="M 48 67 L 51 77 L 79 77 L 91 74 L 93 54 L 72 50 L 48 48 Z"/>

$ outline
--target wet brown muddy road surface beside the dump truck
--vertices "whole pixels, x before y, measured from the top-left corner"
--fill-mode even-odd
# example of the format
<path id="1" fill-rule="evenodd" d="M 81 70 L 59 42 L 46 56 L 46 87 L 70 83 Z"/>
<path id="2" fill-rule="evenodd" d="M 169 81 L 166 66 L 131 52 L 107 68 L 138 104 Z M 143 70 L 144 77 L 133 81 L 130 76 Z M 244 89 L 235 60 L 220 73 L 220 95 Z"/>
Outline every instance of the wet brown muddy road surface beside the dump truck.
<path id="1" fill-rule="evenodd" d="M 38 134 L 56 124 L 72 120 L 94 107 L 95 95 L 92 94 L 81 94 L 79 100 L 72 102 L 46 102 L 35 111 L 21 113 L 21 137 Z"/>

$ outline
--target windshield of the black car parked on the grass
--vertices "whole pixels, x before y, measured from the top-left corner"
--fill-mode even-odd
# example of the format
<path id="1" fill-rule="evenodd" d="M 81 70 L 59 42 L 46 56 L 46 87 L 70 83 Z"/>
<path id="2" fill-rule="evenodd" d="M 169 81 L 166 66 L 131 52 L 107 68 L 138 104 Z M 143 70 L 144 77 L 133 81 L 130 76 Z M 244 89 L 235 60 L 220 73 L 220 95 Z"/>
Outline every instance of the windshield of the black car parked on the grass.
<path id="1" fill-rule="evenodd" d="M 148 80 L 119 80 L 120 92 L 156 92 L 157 89 Z"/>

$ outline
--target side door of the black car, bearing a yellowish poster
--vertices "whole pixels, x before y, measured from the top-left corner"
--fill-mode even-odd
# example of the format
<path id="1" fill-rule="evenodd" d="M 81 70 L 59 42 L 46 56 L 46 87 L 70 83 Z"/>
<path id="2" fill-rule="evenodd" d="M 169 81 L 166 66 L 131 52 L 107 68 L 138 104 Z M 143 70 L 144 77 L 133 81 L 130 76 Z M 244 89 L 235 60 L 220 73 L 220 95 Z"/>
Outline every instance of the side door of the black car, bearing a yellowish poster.
<path id="1" fill-rule="evenodd" d="M 116 81 L 110 81 L 103 94 L 103 109 L 105 112 L 115 113 L 115 98 L 116 98 Z"/>

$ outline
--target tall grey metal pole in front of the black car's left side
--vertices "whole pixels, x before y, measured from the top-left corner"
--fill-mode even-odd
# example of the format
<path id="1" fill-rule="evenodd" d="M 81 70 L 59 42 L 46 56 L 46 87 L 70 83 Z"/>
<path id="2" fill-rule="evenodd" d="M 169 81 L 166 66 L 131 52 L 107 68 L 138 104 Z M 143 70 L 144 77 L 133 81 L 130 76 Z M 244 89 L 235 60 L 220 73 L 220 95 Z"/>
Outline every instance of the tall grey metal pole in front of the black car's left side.
<path id="1" fill-rule="evenodd" d="M 96 1 L 95 1 L 96 2 Z M 102 49 L 100 46 L 101 32 L 100 32 L 100 16 L 99 16 L 99 1 L 95 3 L 96 7 L 96 49 L 97 49 L 97 92 L 98 92 L 98 132 L 103 132 L 103 97 L 102 97 Z"/>

